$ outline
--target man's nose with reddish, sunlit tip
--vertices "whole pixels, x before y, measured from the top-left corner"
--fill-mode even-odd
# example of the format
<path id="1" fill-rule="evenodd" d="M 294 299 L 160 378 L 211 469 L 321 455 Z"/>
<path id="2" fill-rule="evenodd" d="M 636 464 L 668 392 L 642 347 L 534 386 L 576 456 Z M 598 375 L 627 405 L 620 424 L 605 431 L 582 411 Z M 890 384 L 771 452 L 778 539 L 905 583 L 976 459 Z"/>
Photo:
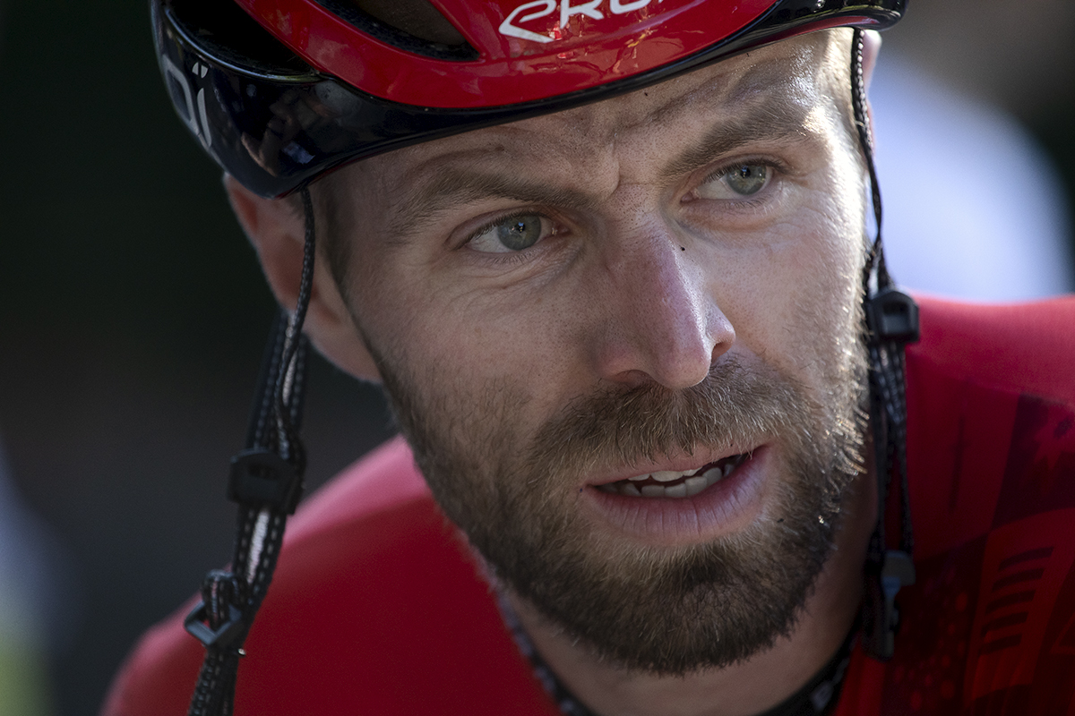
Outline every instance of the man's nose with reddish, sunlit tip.
<path id="1" fill-rule="evenodd" d="M 712 268 L 660 217 L 610 239 L 596 283 L 602 325 L 591 334 L 600 376 L 683 390 L 705 379 L 735 340 L 712 295 Z"/>

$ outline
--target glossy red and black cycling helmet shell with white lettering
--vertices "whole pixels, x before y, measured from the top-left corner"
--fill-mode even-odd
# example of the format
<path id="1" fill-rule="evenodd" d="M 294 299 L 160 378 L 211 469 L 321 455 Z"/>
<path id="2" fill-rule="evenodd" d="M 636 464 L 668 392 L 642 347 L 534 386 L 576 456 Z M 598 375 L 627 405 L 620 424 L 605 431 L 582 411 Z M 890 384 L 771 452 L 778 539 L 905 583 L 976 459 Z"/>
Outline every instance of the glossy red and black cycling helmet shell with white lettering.
<path id="1" fill-rule="evenodd" d="M 345 0 L 153 0 L 176 112 L 228 173 L 282 196 L 346 162 L 567 109 L 812 30 L 884 29 L 905 0 L 429 0 L 460 40 Z"/>

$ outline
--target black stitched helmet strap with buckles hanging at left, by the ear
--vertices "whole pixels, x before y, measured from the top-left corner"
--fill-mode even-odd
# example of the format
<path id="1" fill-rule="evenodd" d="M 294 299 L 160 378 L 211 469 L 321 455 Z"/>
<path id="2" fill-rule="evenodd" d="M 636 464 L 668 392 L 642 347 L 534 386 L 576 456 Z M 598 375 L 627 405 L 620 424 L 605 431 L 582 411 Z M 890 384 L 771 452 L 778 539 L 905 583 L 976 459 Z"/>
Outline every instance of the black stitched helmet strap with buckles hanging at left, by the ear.
<path id="1" fill-rule="evenodd" d="M 295 313 L 281 310 L 266 347 L 246 448 L 231 459 L 228 498 L 239 503 L 231 569 L 202 583 L 202 601 L 184 623 L 205 645 L 189 716 L 230 716 L 239 659 L 264 599 L 284 541 L 287 515 L 302 495 L 306 457 L 299 438 L 309 342 L 302 324 L 314 276 L 314 210 L 302 190 L 305 244 Z"/>

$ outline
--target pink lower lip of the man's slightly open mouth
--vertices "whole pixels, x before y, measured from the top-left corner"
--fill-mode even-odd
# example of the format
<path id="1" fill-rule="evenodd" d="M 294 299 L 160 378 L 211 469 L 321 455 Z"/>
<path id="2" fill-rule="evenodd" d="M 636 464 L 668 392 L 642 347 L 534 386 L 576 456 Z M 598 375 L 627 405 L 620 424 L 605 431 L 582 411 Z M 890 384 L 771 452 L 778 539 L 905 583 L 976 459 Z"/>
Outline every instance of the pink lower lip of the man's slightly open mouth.
<path id="1" fill-rule="evenodd" d="M 628 497 L 591 485 L 583 493 L 584 502 L 617 531 L 650 544 L 710 541 L 739 531 L 758 517 L 769 453 L 768 447 L 758 448 L 731 474 L 693 497 Z"/>

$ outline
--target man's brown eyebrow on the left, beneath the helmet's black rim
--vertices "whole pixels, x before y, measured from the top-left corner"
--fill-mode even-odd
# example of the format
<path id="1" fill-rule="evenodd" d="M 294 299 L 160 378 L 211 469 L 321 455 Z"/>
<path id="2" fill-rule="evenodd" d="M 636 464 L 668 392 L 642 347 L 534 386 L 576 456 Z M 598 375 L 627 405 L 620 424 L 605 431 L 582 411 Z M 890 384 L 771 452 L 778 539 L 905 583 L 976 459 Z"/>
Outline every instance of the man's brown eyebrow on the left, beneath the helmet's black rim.
<path id="1" fill-rule="evenodd" d="M 454 205 L 489 199 L 510 199 L 565 209 L 585 209 L 597 203 L 597 198 L 577 189 L 497 172 L 452 167 L 436 172 L 433 179 L 407 193 L 391 211 L 389 233 L 397 239 L 402 238 Z"/>

